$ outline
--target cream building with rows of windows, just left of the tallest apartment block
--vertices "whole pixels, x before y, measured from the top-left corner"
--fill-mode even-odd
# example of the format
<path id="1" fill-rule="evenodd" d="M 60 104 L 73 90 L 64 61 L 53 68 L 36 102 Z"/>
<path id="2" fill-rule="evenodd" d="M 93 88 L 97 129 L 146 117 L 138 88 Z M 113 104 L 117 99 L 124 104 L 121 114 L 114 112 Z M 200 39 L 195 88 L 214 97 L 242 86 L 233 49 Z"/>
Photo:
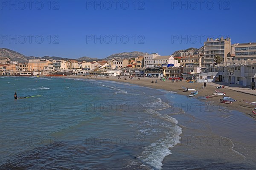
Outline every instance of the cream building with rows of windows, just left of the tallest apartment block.
<path id="1" fill-rule="evenodd" d="M 180 59 L 180 66 L 183 67 L 202 67 L 204 64 L 203 57 L 184 57 Z"/>

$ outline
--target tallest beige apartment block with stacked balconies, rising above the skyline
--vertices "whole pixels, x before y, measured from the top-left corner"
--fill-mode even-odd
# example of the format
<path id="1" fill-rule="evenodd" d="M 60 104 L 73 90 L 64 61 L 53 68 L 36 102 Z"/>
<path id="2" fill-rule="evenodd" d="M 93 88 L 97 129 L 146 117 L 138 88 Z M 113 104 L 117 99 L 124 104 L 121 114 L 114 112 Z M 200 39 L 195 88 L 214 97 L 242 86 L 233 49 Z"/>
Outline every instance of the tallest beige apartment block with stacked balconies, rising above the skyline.
<path id="1" fill-rule="evenodd" d="M 215 39 L 207 38 L 207 41 L 204 42 L 204 66 L 211 67 L 215 65 L 214 58 L 215 56 L 221 56 L 222 63 L 226 62 L 227 54 L 231 52 L 231 39 Z"/>

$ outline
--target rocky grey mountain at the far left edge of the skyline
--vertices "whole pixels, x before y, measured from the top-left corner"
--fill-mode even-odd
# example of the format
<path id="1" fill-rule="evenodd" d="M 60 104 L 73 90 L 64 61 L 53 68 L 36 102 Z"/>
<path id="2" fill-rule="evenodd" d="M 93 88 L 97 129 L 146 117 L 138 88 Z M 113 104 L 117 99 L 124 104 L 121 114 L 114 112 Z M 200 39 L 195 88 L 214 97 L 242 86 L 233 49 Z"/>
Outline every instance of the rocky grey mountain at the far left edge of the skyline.
<path id="1" fill-rule="evenodd" d="M 0 57 L 9 57 L 11 61 L 18 61 L 19 63 L 29 62 L 28 57 L 8 48 L 0 48 Z"/>

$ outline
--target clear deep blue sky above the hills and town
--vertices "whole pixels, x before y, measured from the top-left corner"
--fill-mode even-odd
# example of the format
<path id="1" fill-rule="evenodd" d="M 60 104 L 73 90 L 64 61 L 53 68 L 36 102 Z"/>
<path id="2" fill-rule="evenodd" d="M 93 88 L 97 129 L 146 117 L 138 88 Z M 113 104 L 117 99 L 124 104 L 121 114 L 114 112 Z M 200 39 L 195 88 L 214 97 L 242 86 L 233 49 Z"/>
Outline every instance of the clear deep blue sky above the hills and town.
<path id="1" fill-rule="evenodd" d="M 256 42 L 256 1 L 0 1 L 0 47 L 26 56 L 170 55 L 220 36 Z"/>

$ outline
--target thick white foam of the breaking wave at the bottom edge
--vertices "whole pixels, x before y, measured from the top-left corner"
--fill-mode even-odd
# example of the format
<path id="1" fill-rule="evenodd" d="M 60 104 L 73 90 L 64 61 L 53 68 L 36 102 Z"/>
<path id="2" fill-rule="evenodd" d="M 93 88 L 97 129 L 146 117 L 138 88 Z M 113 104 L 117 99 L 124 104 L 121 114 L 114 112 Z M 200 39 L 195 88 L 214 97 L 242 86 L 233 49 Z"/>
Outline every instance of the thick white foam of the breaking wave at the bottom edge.
<path id="1" fill-rule="evenodd" d="M 169 148 L 180 143 L 180 134 L 182 133 L 181 127 L 175 125 L 172 129 L 173 130 L 169 131 L 166 136 L 143 148 L 143 153 L 138 157 L 143 162 L 140 166 L 148 165 L 156 170 L 162 168 L 163 159 L 169 154 L 172 154 L 172 151 L 169 150 Z"/>

